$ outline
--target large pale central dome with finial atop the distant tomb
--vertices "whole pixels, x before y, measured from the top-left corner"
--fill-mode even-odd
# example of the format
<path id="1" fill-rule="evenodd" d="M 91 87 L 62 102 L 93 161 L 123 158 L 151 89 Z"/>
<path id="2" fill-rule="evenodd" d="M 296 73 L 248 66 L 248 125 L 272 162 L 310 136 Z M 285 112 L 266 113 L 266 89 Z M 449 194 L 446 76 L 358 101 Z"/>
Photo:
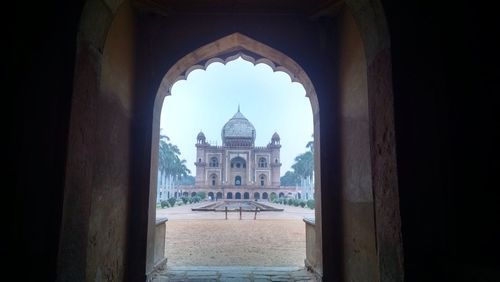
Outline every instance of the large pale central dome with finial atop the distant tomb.
<path id="1" fill-rule="evenodd" d="M 222 142 L 226 146 L 252 146 L 255 141 L 255 127 L 238 112 L 222 128 Z"/>

